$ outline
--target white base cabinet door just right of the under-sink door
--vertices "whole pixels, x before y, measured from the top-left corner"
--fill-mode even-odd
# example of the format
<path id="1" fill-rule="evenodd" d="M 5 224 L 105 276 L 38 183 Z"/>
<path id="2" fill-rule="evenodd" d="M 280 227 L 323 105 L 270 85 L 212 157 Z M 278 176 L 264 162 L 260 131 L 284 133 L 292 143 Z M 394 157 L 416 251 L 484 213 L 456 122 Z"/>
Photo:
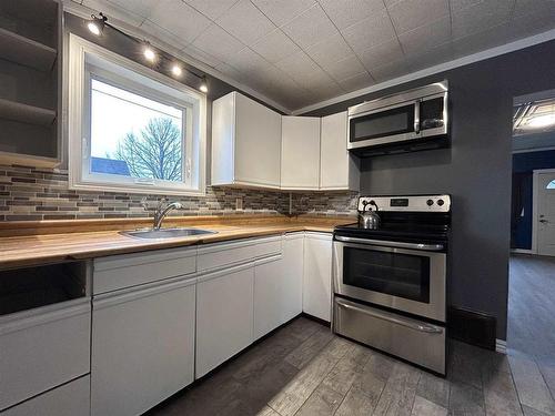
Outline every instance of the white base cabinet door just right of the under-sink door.
<path id="1" fill-rule="evenodd" d="M 196 378 L 253 341 L 254 265 L 199 277 L 196 285 Z"/>

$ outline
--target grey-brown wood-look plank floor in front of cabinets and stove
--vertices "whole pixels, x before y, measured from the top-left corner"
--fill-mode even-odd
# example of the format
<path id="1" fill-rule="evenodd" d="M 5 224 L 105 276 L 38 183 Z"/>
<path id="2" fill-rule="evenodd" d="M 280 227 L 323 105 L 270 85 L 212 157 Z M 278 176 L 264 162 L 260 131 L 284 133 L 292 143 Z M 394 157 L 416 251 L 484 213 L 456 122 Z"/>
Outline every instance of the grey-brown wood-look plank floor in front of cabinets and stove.
<path id="1" fill-rule="evenodd" d="M 450 342 L 448 375 L 299 317 L 150 416 L 555 415 L 555 366 Z"/>

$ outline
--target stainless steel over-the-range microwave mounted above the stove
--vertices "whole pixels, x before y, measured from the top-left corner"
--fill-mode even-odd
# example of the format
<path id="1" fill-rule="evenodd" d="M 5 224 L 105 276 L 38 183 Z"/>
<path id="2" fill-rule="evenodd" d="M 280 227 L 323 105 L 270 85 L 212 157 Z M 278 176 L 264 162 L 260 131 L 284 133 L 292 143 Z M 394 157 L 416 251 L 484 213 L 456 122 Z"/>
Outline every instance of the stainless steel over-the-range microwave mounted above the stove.
<path id="1" fill-rule="evenodd" d="M 447 81 L 363 102 L 349 109 L 347 149 L 417 150 L 431 139 L 447 142 Z"/>

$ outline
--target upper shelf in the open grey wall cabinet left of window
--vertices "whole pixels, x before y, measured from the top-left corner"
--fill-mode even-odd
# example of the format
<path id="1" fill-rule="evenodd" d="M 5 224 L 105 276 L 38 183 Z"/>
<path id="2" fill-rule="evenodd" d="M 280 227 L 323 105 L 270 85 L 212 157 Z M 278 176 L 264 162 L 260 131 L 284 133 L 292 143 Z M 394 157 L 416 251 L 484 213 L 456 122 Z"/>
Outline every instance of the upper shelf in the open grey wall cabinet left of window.
<path id="1" fill-rule="evenodd" d="M 0 58 L 17 62 L 39 71 L 50 71 L 54 64 L 57 51 L 21 34 L 0 28 Z"/>

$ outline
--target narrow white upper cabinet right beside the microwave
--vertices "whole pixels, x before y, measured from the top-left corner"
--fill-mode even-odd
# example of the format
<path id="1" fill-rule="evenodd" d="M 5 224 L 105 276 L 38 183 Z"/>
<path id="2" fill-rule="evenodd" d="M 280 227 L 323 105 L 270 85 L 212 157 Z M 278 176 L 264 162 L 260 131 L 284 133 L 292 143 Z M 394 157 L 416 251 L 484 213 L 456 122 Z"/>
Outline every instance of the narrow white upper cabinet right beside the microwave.
<path id="1" fill-rule="evenodd" d="M 347 145 L 347 113 L 322 118 L 320 140 L 320 189 L 359 190 L 359 159 Z"/>

